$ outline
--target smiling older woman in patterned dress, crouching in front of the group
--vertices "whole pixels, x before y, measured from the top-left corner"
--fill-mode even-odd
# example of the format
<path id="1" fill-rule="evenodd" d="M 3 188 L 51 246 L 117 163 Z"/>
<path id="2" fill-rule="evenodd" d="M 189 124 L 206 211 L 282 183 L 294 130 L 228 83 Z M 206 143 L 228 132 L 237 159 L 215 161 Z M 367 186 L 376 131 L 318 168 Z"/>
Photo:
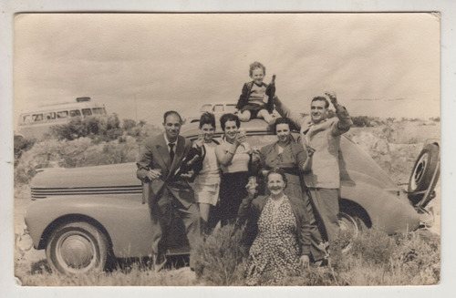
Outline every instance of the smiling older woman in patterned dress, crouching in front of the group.
<path id="1" fill-rule="evenodd" d="M 310 224 L 303 200 L 285 195 L 284 170 L 269 170 L 266 183 L 270 195 L 253 200 L 255 186 L 248 184 L 249 196 L 239 208 L 254 239 L 245 267 L 247 285 L 280 283 L 309 264 Z"/>

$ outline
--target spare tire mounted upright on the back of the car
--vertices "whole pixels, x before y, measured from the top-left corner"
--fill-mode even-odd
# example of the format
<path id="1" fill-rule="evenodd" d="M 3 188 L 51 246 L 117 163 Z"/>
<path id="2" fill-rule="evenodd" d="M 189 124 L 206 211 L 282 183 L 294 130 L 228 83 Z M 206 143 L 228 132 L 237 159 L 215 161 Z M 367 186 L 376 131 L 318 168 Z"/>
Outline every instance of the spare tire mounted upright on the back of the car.
<path id="1" fill-rule="evenodd" d="M 409 179 L 409 200 L 414 206 L 425 207 L 429 202 L 440 175 L 440 149 L 426 145 L 420 152 Z"/>

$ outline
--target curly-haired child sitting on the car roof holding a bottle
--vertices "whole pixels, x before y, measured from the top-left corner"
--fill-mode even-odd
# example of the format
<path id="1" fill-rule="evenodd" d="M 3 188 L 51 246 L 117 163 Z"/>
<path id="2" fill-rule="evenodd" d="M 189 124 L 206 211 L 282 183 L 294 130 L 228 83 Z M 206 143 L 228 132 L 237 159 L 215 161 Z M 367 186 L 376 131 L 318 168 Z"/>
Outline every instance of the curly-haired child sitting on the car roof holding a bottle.
<path id="1" fill-rule="evenodd" d="M 253 81 L 244 84 L 243 92 L 237 101 L 235 113 L 241 121 L 249 121 L 252 118 L 264 118 L 269 124 L 274 122 L 273 114 L 275 97 L 275 75 L 271 84 L 263 82 L 266 67 L 260 62 L 250 65 L 250 77 Z M 267 104 L 264 103 L 264 99 Z"/>

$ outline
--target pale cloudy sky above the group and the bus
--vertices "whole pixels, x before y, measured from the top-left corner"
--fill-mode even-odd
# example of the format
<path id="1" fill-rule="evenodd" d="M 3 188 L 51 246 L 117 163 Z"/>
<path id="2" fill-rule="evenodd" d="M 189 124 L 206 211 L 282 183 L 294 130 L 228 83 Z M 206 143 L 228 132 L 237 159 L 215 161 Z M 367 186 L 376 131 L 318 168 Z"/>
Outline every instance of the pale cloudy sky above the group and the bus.
<path id="1" fill-rule="evenodd" d="M 83 96 L 155 125 L 198 115 L 235 103 L 254 61 L 295 110 L 333 91 L 353 116 L 440 116 L 437 15 L 22 14 L 14 29 L 15 121 Z"/>

